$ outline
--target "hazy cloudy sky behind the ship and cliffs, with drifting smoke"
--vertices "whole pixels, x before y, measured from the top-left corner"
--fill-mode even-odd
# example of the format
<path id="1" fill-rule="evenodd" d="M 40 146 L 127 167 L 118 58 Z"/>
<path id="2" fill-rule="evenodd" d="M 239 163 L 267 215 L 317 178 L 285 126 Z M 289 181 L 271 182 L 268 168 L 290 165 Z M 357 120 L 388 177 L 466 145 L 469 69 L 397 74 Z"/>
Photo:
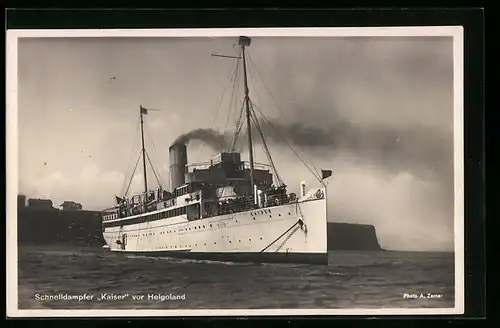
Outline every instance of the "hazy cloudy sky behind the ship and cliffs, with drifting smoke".
<path id="1" fill-rule="evenodd" d="M 241 75 L 231 101 L 236 62 L 211 54 L 236 55 L 236 41 L 21 39 L 20 192 L 111 206 L 139 156 L 140 105 L 161 110 L 145 118 L 146 144 L 168 182 L 176 137 L 235 125 Z M 252 100 L 308 163 L 334 171 L 331 220 L 375 224 L 383 247 L 453 248 L 451 37 L 255 37 L 248 50 Z M 269 146 L 290 191 L 317 183 L 277 140 Z M 214 152 L 188 145 L 189 162 Z M 266 162 L 260 147 L 256 156 Z"/>

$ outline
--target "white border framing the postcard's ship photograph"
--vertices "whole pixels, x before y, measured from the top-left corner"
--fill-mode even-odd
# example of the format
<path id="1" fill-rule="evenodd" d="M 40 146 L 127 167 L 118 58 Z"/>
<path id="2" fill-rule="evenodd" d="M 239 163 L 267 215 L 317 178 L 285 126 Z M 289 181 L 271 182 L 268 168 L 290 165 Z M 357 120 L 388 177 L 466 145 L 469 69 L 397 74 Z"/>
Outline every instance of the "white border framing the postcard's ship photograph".
<path id="1" fill-rule="evenodd" d="M 6 112 L 6 290 L 9 317 L 156 317 L 156 316 L 290 316 L 290 315 L 444 315 L 464 313 L 464 102 L 462 26 L 355 27 L 355 28 L 227 28 L 227 29 L 99 29 L 7 30 Z M 453 37 L 454 146 L 455 146 L 455 307 L 384 309 L 211 309 L 211 310 L 19 310 L 18 309 L 18 121 L 17 59 L 19 38 L 62 37 Z M 132 312 L 133 311 L 133 312 Z"/>

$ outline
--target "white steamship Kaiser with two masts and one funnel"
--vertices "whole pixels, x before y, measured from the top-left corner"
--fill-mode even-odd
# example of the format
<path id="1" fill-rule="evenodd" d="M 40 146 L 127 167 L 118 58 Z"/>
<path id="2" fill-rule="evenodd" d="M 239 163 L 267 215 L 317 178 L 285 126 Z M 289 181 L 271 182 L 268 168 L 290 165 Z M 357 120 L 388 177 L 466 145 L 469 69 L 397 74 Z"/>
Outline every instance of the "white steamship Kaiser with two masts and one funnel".
<path id="1" fill-rule="evenodd" d="M 175 141 L 169 148 L 169 188 L 148 189 L 144 118 L 151 109 L 140 106 L 144 191 L 115 196 L 116 205 L 103 211 L 103 236 L 111 251 L 210 261 L 328 264 L 325 180 L 332 171 L 316 172 L 318 183 L 310 189 L 300 182 L 297 195 L 288 193 L 270 153 L 269 165 L 254 161 L 252 132 L 260 134 L 266 151 L 268 147 L 249 96 L 250 43 L 242 36 L 238 56 L 212 55 L 237 59 L 235 70 L 243 70 L 244 98 L 231 146 L 208 163 L 189 164 L 186 143 Z M 243 125 L 248 161 L 235 150 Z"/>

